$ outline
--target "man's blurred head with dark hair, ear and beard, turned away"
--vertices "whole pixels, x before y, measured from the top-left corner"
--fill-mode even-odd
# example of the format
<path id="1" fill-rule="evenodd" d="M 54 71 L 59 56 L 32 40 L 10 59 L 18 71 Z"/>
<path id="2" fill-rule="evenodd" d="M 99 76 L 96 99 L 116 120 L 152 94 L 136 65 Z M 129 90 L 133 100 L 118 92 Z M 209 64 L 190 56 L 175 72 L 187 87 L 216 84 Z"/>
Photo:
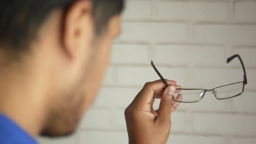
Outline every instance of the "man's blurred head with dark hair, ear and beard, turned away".
<path id="1" fill-rule="evenodd" d="M 42 135 L 77 127 L 100 88 L 123 8 L 124 0 L 0 2 L 0 78 L 12 87 L 26 81 L 20 94 L 44 110 Z"/>

